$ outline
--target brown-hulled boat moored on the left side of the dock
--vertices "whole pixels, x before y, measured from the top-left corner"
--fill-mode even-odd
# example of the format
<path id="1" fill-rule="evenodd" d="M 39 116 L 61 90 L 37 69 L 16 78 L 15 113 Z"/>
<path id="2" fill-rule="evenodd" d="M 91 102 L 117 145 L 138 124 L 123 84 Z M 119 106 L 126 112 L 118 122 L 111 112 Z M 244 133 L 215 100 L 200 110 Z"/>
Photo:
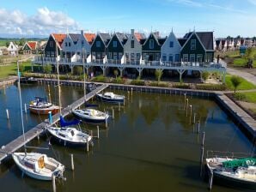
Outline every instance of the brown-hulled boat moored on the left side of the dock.
<path id="1" fill-rule="evenodd" d="M 54 115 L 58 113 L 59 106 L 47 102 L 45 98 L 35 97 L 29 104 L 29 111 L 40 115 L 47 115 L 51 111 Z"/>

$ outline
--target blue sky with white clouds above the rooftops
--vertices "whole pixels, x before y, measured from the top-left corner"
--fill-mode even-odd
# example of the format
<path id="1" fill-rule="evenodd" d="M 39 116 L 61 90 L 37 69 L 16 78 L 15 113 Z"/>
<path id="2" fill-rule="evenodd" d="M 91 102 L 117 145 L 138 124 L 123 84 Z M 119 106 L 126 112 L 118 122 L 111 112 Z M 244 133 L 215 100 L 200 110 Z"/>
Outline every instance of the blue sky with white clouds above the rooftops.
<path id="1" fill-rule="evenodd" d="M 125 32 L 256 36 L 256 0 L 0 0 L 0 37 Z"/>

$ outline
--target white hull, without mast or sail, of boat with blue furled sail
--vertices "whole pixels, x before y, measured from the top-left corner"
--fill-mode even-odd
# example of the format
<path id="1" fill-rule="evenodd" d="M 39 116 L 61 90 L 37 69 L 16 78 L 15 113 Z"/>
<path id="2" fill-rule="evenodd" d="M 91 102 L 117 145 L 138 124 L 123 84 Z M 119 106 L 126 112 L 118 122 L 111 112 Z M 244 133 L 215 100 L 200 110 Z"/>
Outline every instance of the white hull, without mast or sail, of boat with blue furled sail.
<path id="1" fill-rule="evenodd" d="M 59 143 L 70 146 L 85 146 L 92 143 L 92 136 L 83 133 L 81 130 L 76 128 L 58 128 L 58 127 L 47 127 L 46 128 L 56 141 Z"/>

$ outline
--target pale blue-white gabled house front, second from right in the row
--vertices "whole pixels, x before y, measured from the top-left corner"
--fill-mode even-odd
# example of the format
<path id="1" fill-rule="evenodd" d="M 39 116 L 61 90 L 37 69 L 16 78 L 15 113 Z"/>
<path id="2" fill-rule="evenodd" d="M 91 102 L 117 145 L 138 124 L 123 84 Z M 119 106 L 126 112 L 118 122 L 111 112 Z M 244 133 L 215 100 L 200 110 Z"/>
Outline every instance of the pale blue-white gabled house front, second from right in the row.
<path id="1" fill-rule="evenodd" d="M 174 33 L 171 32 L 161 47 L 162 62 L 180 62 L 180 50 L 180 43 Z"/>

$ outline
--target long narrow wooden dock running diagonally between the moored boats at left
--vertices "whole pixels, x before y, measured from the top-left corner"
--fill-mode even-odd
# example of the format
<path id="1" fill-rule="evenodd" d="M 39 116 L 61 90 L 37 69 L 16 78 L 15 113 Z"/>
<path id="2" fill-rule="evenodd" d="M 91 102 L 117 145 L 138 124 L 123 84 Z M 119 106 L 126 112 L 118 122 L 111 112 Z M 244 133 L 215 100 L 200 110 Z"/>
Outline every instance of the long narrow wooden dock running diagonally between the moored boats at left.
<path id="1" fill-rule="evenodd" d="M 86 95 L 86 99 L 85 99 L 85 97 L 82 97 L 81 99 L 76 100 L 74 103 L 72 103 L 71 105 L 68 105 L 66 108 L 64 108 L 61 111 L 61 115 L 63 117 L 69 115 L 72 110 L 74 110 L 77 107 L 79 107 L 80 105 L 82 105 L 84 103 L 84 100 L 88 101 L 89 99 L 92 99 L 96 93 L 100 93 L 107 87 L 108 87 L 107 84 L 103 84 L 103 85 L 97 87 L 94 91 L 92 91 Z M 58 122 L 59 116 L 60 116 L 59 113 L 52 116 L 52 124 Z M 46 130 L 47 125 L 49 125 L 48 119 L 46 119 L 44 122 L 35 126 L 33 129 L 28 130 L 27 133 L 25 133 L 25 142 L 23 139 L 23 135 L 21 135 L 18 138 L 16 138 L 14 141 L 9 142 L 5 146 L 2 146 L 0 149 L 0 164 L 1 164 L 1 161 L 3 161 L 3 159 L 5 159 L 9 156 L 9 154 L 14 153 L 16 150 L 18 150 L 19 148 L 21 148 L 22 146 L 27 144 L 27 142 L 32 141 L 35 137 L 37 137 L 38 135 L 43 133 Z"/>

